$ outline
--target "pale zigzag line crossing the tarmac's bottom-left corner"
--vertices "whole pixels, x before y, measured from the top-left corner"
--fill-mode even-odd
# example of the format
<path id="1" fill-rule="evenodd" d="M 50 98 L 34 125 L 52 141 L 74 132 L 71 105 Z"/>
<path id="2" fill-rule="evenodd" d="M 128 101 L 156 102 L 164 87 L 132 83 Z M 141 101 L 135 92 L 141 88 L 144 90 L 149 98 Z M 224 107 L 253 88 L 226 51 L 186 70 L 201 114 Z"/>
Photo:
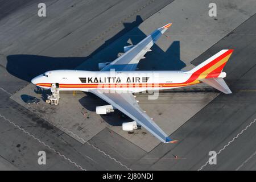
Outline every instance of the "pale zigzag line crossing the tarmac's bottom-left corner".
<path id="1" fill-rule="evenodd" d="M 65 155 L 61 154 L 60 152 L 56 151 L 54 148 L 48 146 L 48 144 L 42 142 L 40 139 L 36 138 L 34 135 L 28 133 L 28 131 L 24 130 L 22 127 L 16 125 L 14 122 L 10 121 L 10 119 L 7 119 L 5 116 L 3 116 L 2 114 L 0 114 L 0 117 L 5 119 L 5 121 L 9 122 L 11 125 L 15 126 L 16 128 L 18 128 L 20 131 L 22 131 L 23 133 L 27 134 L 28 136 L 34 138 L 35 140 L 37 140 L 39 143 L 43 144 L 44 146 L 46 146 L 47 148 L 49 148 L 49 150 L 52 150 L 53 152 L 55 152 L 55 154 L 58 154 L 59 156 L 61 156 L 62 158 L 64 158 L 65 160 L 68 160 L 68 162 L 70 162 L 71 164 L 74 164 L 76 167 L 80 168 L 82 171 L 86 171 L 86 169 L 82 168 L 80 165 L 76 164 L 75 162 L 73 162 L 71 159 L 67 158 Z"/>

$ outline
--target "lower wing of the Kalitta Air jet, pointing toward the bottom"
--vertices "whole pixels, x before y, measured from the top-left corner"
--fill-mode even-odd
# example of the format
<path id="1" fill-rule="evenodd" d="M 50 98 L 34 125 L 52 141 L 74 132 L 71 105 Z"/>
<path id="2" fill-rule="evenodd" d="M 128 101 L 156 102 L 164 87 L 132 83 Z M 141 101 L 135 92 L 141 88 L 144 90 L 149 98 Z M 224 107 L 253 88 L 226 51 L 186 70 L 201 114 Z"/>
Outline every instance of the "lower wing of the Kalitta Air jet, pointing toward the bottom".
<path id="1" fill-rule="evenodd" d="M 177 140 L 172 140 L 168 137 L 166 133 L 152 119 L 144 113 L 144 111 L 139 107 L 137 101 L 135 100 L 132 93 L 111 93 L 110 90 L 102 89 L 91 89 L 90 93 L 96 94 L 96 96 L 102 98 L 109 104 L 111 104 L 115 109 L 122 111 L 128 117 L 136 121 L 139 125 L 143 126 L 145 129 L 150 131 L 156 138 L 164 143 L 175 143 Z"/>

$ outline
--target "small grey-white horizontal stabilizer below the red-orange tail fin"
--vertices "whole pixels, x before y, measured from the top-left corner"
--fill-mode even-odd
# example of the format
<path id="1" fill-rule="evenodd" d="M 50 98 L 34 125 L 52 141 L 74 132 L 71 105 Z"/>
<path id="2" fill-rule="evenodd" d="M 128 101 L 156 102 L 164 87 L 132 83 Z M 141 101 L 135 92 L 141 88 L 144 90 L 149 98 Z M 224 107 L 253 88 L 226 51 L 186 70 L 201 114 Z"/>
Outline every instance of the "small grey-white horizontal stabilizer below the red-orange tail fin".
<path id="1" fill-rule="evenodd" d="M 200 81 L 212 86 L 213 88 L 216 88 L 217 90 L 220 90 L 220 92 L 226 94 L 232 93 L 228 85 L 226 85 L 226 82 L 223 80 L 223 78 L 205 78 Z"/>

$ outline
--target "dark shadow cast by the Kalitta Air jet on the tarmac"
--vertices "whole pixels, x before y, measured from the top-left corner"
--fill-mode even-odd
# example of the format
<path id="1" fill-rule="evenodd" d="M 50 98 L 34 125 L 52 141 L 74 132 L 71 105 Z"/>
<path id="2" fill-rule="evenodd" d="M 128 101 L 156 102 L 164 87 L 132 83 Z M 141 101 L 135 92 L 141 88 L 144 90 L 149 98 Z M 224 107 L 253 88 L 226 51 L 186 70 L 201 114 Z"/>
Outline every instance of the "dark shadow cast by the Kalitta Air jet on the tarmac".
<path id="1" fill-rule="evenodd" d="M 11 75 L 18 77 L 22 80 L 26 80 L 28 82 L 31 81 L 32 78 L 38 76 L 46 71 L 54 70 L 54 69 L 75 69 L 79 65 L 78 69 L 83 69 L 86 71 L 98 71 L 98 63 L 106 62 L 109 60 L 114 60 L 117 58 L 119 52 L 123 52 L 124 46 L 129 46 L 129 44 L 137 44 L 146 35 L 139 30 L 137 27 L 143 20 L 141 16 L 137 16 L 136 20 L 132 23 L 123 23 L 122 31 L 118 32 L 118 34 L 114 35 L 113 38 L 106 40 L 106 42 L 99 48 L 96 49 L 91 55 L 88 57 L 47 57 L 47 56 L 38 56 L 38 55 L 9 55 L 7 56 L 7 71 L 11 73 Z M 137 28 L 134 28 L 137 27 Z M 133 29 L 134 28 L 134 29 Z M 131 30 L 133 29 L 133 30 Z M 123 36 L 126 32 L 132 31 L 131 36 Z M 154 31 L 154 30 L 152 30 Z M 163 35 L 164 37 L 164 35 Z M 104 48 L 108 47 L 110 44 L 121 38 L 118 44 L 114 44 L 115 47 L 104 51 Z M 166 38 L 168 39 L 168 38 Z M 167 40 L 168 41 L 168 40 Z M 129 43 L 128 43 L 129 42 Z M 138 69 L 141 71 L 146 70 L 155 70 L 155 71 L 179 71 L 185 67 L 185 63 L 180 60 L 180 42 L 174 41 L 170 47 L 164 52 L 160 47 L 156 44 L 152 46 L 152 52 L 148 52 L 145 57 L 138 64 Z M 103 50 L 104 52 L 97 55 L 97 60 L 89 59 L 97 52 Z M 93 61 L 88 61 L 93 60 Z M 89 98 L 91 97 L 91 98 Z M 88 110 L 94 110 L 96 106 L 106 105 L 106 102 L 102 101 L 102 104 L 97 103 L 94 104 L 91 101 L 92 98 L 96 98 L 97 96 L 92 96 L 92 94 L 88 94 L 84 98 L 81 98 L 79 101 L 82 106 L 84 106 Z M 100 99 L 100 98 L 97 98 Z M 120 117 L 122 114 L 119 111 L 115 111 L 114 113 L 110 113 L 108 115 L 102 115 L 102 118 L 108 122 L 110 125 L 120 125 L 122 122 L 129 122 L 130 118 L 128 117 Z M 124 121 L 125 120 L 125 121 Z M 127 120 L 127 121 L 126 121 Z M 129 121 L 128 121 L 129 120 Z M 113 121 L 122 121 L 117 123 L 113 123 Z"/>

